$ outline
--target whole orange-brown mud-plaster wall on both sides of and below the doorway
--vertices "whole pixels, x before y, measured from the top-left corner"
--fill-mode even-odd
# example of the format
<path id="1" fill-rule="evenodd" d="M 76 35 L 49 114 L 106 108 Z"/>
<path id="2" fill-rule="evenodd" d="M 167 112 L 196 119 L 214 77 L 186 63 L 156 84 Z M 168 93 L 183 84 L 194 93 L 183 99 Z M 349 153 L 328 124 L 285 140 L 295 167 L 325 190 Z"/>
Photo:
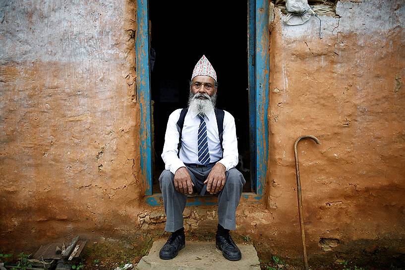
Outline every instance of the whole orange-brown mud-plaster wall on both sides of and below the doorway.
<path id="1" fill-rule="evenodd" d="M 3 249 L 163 231 L 162 207 L 142 200 L 135 8 L 1 4 Z M 319 39 L 317 18 L 287 26 L 274 9 L 265 195 L 239 205 L 236 230 L 264 255 L 302 256 L 293 143 L 307 134 L 321 141 L 298 147 L 310 258 L 405 254 L 405 4 L 334 14 L 320 12 Z M 187 207 L 186 230 L 213 232 L 215 210 Z"/>

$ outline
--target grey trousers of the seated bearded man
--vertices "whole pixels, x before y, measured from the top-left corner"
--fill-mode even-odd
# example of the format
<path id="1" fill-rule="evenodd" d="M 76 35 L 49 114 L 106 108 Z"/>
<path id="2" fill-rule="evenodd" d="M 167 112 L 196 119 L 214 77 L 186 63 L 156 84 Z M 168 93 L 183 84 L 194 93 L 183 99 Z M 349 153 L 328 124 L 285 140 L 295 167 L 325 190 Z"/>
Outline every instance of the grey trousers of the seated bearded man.
<path id="1" fill-rule="evenodd" d="M 200 194 L 201 190 L 206 188 L 203 182 L 207 179 L 212 167 L 196 168 L 186 165 L 186 168 L 194 184 L 193 192 Z M 246 181 L 243 175 L 235 168 L 225 172 L 225 177 L 227 179 L 225 186 L 219 194 L 217 194 L 218 223 L 225 229 L 234 230 L 236 228 L 236 207 Z M 174 174 L 169 170 L 162 172 L 159 177 L 159 183 L 167 218 L 165 230 L 174 232 L 183 227 L 183 211 L 187 201 L 187 195 L 176 191 L 174 188 Z M 207 192 L 207 194 L 209 193 Z"/>

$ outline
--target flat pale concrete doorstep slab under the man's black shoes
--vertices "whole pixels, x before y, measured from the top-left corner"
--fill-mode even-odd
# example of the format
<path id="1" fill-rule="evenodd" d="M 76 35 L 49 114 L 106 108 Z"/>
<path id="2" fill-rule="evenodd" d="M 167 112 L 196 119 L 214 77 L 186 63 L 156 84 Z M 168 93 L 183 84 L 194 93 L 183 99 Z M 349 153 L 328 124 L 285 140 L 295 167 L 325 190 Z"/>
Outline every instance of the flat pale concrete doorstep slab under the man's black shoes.
<path id="1" fill-rule="evenodd" d="M 240 261 L 231 262 L 222 256 L 215 242 L 186 241 L 178 255 L 172 260 L 161 260 L 159 251 L 166 240 L 153 242 L 148 255 L 142 257 L 136 270 L 260 270 L 259 258 L 253 245 L 238 244 L 242 253 Z"/>

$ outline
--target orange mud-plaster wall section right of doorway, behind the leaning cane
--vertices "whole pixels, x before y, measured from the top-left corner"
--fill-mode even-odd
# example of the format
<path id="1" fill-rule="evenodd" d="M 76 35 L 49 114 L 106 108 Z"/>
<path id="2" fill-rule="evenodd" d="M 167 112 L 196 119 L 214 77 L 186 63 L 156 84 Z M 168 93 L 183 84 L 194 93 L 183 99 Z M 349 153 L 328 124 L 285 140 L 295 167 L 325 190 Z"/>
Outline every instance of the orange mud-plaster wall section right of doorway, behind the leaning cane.
<path id="1" fill-rule="evenodd" d="M 309 254 L 404 254 L 404 2 L 339 1 L 322 39 L 317 18 L 287 26 L 274 11 L 264 245 L 300 251 L 293 144 L 315 135 L 298 147 Z"/>

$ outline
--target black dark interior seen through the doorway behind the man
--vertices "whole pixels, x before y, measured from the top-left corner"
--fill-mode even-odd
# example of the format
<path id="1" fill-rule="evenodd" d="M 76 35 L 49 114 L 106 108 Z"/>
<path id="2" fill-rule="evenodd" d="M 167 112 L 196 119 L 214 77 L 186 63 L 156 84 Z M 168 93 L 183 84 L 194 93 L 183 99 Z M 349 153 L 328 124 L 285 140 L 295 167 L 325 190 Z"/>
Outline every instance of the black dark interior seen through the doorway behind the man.
<path id="1" fill-rule="evenodd" d="M 149 20 L 153 193 L 160 193 L 158 179 L 165 168 L 161 154 L 167 120 L 187 106 L 191 74 L 203 55 L 217 72 L 217 107 L 235 118 L 241 156 L 236 168 L 245 177 L 244 191 L 250 192 L 247 3 L 150 0 Z"/>

